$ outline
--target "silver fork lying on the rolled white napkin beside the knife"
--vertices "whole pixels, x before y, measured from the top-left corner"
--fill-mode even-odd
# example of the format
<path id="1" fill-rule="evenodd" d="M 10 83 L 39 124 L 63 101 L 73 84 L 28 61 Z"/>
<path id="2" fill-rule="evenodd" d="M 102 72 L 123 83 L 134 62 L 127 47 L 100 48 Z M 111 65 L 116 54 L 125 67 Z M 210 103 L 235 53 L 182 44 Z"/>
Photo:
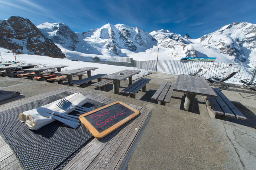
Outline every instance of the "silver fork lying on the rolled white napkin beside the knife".
<path id="1" fill-rule="evenodd" d="M 81 113 L 90 112 L 93 110 L 90 108 L 85 108 L 82 106 L 74 105 L 73 103 L 71 103 L 70 101 L 68 101 L 66 99 L 61 99 L 56 105 L 63 110 L 75 110 L 78 112 L 82 111 Z"/>

